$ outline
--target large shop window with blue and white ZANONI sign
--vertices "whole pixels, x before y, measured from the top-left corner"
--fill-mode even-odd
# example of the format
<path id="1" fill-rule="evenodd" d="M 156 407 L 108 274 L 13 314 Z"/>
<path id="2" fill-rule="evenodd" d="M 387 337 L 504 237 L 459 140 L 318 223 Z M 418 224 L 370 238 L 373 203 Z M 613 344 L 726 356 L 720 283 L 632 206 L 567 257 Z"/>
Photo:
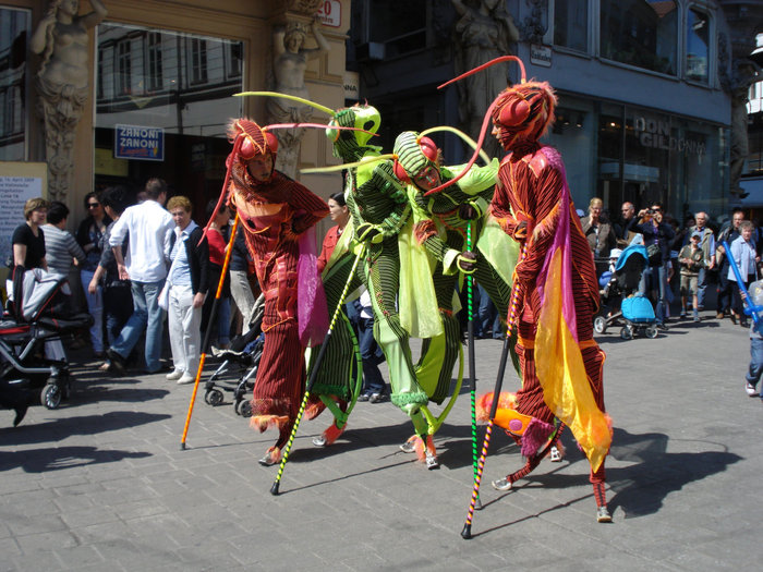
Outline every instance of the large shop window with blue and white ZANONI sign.
<path id="1" fill-rule="evenodd" d="M 243 42 L 117 23 L 96 38 L 95 187 L 161 177 L 199 221 L 225 179 L 227 123 L 242 113 Z"/>

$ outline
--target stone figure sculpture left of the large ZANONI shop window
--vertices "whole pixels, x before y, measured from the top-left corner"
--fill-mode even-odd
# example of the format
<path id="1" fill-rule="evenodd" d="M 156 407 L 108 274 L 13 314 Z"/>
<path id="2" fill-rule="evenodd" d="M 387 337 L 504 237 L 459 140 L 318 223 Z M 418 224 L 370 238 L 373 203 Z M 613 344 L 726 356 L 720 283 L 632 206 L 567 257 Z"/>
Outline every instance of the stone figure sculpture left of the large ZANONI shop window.
<path id="1" fill-rule="evenodd" d="M 37 71 L 38 112 L 45 124 L 50 199 L 65 200 L 74 170 L 72 151 L 77 123 L 89 96 L 88 28 L 106 17 L 100 0 L 77 15 L 77 0 L 53 0 L 35 29 L 29 47 L 41 56 Z"/>

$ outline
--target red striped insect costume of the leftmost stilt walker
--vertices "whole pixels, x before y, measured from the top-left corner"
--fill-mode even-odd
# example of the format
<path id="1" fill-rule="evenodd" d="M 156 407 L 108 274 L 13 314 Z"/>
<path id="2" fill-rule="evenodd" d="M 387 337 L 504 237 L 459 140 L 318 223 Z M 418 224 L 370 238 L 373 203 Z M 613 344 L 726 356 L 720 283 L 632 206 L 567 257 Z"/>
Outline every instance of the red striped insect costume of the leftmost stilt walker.
<path id="1" fill-rule="evenodd" d="M 259 461 L 275 464 L 289 439 L 305 386 L 304 348 L 296 321 L 299 235 L 328 215 L 326 203 L 304 185 L 271 168 L 277 142 L 253 121 L 235 121 L 230 161 L 229 203 L 241 219 L 246 246 L 265 294 L 265 345 L 252 399 L 252 426 L 276 425 L 278 441 Z M 269 177 L 257 178 L 250 160 L 270 161 Z"/>

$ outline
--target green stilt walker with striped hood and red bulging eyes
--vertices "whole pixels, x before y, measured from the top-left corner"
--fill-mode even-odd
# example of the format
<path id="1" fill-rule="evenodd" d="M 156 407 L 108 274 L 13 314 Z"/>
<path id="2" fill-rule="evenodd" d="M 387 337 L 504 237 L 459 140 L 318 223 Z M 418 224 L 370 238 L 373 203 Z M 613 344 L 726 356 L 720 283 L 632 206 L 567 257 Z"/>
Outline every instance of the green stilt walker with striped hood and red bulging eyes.
<path id="1" fill-rule="evenodd" d="M 426 327 L 421 324 L 420 318 L 413 316 L 413 311 L 407 304 L 407 300 L 413 297 L 414 289 L 419 304 L 422 304 L 422 293 L 426 292 L 416 276 L 416 269 L 413 268 L 414 265 L 422 264 L 416 263 L 415 258 L 421 259 L 421 253 L 424 252 L 423 264 L 431 269 L 436 312 L 443 326 L 441 332 L 433 337 L 427 337 L 424 331 L 416 332 L 426 338 L 421 360 L 416 365 L 416 376 L 429 399 L 441 403 L 450 389 L 453 365 L 460 350 L 460 325 L 455 317 L 459 309 L 455 305 L 455 301 L 458 304 L 457 280 L 461 273 L 474 273 L 474 278 L 483 284 L 500 314 L 506 315 L 518 246 L 487 215 L 498 172 L 497 159 L 488 161 L 485 156 L 486 166 L 472 167 L 458 184 L 449 186 L 444 193 L 427 196 L 428 191 L 453 179 L 464 169 L 464 166 L 439 165 L 438 149 L 435 143 L 425 136 L 434 131 L 452 131 L 472 147 L 476 144 L 451 127 L 433 127 L 422 134 L 403 132 L 395 142 L 396 173 L 407 183 L 412 208 L 412 224 L 407 227 L 410 240 L 404 241 L 409 250 L 401 251 L 401 319 L 411 334 L 414 334 L 417 327 Z M 477 244 L 475 252 L 468 252 L 467 247 L 470 226 Z M 486 228 L 489 232 L 481 236 Z M 428 410 L 424 409 L 424 412 L 428 413 Z M 437 421 L 429 414 L 426 417 L 429 422 L 427 433 L 431 438 L 444 421 L 444 415 Z M 412 451 L 415 442 L 416 436 L 411 437 L 403 450 Z"/>

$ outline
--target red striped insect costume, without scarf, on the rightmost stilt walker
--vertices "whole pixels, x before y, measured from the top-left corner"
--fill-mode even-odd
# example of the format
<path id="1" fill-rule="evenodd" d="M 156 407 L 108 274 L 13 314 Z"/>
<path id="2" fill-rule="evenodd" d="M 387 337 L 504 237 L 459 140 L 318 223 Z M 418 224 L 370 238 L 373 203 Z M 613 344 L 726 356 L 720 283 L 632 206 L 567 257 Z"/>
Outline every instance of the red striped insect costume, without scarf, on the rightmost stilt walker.
<path id="1" fill-rule="evenodd" d="M 535 342 L 544 305 L 548 304 L 546 299 L 550 295 L 550 289 L 557 285 L 554 282 L 558 282 L 569 296 L 569 315 L 572 318 L 566 328 L 577 333 L 573 339 L 582 357 L 584 369 L 581 373 L 584 370 L 590 397 L 600 413 L 605 411 L 602 387 L 604 352 L 593 339 L 593 314 L 598 307 L 596 271 L 569 196 L 561 157 L 556 149 L 542 146 L 537 141 L 553 121 L 556 97 L 547 83 L 528 82 L 504 90 L 496 99 L 492 113 L 494 134 L 510 151 L 498 171 L 499 184 L 493 197 L 492 212 L 504 230 L 525 247 L 524 258 L 517 265 L 514 275 L 518 301 L 516 350 L 522 368 L 522 388 L 516 395 L 516 411 L 549 425 L 554 417 L 561 415 L 549 407 L 547 402 L 553 401 L 549 399 L 549 386 L 538 379 L 536 365 L 538 369 L 541 367 L 535 362 Z M 567 236 L 560 241 L 559 229 L 562 224 Z M 549 254 L 553 255 L 552 251 L 557 245 L 566 251 L 565 256 L 571 264 L 568 271 L 559 269 L 555 276 L 549 265 Z M 562 320 L 565 318 L 562 316 Z M 552 370 L 544 369 L 548 373 Z M 567 395 L 562 399 L 567 399 Z M 565 409 L 564 404 L 552 405 L 555 410 Z M 583 430 L 591 428 L 589 425 Z M 591 439 L 594 445 L 586 449 L 574 425 L 572 430 L 591 461 L 597 519 L 610 520 L 604 489 L 604 455 L 610 438 L 594 435 Z M 605 430 L 608 431 L 608 428 Z M 601 452 L 602 443 L 605 443 L 604 454 Z M 591 450 L 597 446 L 594 458 Z M 530 458 L 525 467 L 496 482 L 496 488 L 508 488 L 506 484 L 510 486 L 530 473 L 536 461 L 540 460 Z"/>

